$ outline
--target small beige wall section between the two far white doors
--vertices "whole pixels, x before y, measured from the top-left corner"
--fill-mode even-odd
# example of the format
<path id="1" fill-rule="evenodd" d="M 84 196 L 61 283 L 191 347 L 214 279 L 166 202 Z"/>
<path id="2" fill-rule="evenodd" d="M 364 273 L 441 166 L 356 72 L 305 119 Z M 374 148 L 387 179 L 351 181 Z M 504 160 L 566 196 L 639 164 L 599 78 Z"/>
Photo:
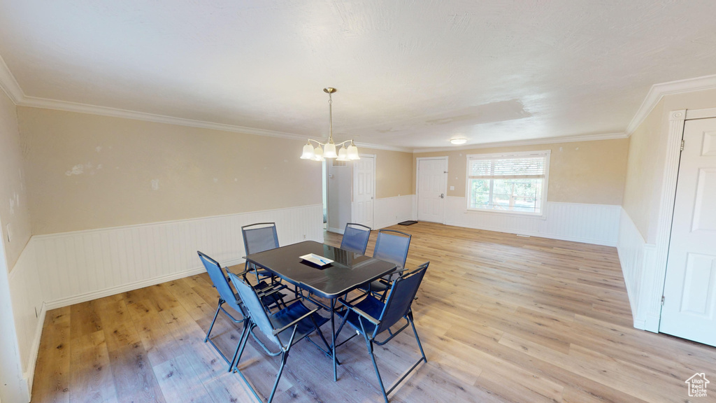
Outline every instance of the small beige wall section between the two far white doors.
<path id="1" fill-rule="evenodd" d="M 375 155 L 375 196 L 405 196 L 414 194 L 412 181 L 412 153 L 402 151 L 376 150 L 360 147 L 364 154 Z"/>

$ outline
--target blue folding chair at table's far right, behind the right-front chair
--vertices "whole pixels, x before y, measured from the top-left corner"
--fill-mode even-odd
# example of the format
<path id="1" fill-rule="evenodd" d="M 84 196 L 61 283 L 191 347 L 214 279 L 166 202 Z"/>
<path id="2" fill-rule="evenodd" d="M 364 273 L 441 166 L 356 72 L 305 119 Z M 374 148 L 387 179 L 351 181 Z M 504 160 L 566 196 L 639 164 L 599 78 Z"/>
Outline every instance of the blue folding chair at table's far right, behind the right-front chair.
<path id="1" fill-rule="evenodd" d="M 390 288 L 393 278 L 396 278 L 405 270 L 405 260 L 407 260 L 407 251 L 410 249 L 411 237 L 412 235 L 410 234 L 395 231 L 394 229 L 380 229 L 378 231 L 373 257 L 394 263 L 397 266 L 397 270 L 384 278 L 361 285 L 361 290 L 373 295 L 381 295 L 381 300 L 385 299 L 385 292 Z"/>

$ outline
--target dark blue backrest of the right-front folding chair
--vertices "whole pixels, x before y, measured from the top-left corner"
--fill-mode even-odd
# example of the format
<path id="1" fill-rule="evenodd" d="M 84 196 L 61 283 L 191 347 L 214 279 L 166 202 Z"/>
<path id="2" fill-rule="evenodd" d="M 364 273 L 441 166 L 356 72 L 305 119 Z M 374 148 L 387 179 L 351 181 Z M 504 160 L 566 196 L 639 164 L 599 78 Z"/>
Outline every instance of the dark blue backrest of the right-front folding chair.
<path id="1" fill-rule="evenodd" d="M 393 281 L 393 285 L 390 288 L 390 294 L 385 301 L 382 313 L 380 313 L 380 326 L 375 328 L 373 336 L 377 336 L 382 331 L 386 331 L 391 326 L 395 325 L 400 318 L 407 315 L 410 311 L 410 305 L 412 300 L 417 294 L 417 289 L 420 288 L 422 278 L 425 277 L 425 271 L 430 262 L 425 262 L 417 269 L 412 272 L 405 273 L 405 275 Z"/>

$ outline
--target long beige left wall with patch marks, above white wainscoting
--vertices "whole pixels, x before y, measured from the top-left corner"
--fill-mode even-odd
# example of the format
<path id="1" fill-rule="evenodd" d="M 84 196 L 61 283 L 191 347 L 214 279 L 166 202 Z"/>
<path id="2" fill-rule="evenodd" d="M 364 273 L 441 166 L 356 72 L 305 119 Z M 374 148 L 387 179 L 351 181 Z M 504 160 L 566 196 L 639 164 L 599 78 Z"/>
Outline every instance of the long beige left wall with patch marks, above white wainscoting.
<path id="1" fill-rule="evenodd" d="M 304 141 L 17 109 L 32 234 L 321 204 Z"/>

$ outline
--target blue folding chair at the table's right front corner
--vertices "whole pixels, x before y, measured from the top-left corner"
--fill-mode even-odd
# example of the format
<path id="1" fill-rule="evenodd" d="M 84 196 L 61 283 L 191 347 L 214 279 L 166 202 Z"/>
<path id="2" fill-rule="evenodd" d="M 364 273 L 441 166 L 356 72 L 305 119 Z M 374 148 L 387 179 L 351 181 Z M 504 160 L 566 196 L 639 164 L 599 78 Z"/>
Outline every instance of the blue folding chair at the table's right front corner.
<path id="1" fill-rule="evenodd" d="M 366 298 L 354 305 L 339 299 L 339 301 L 345 305 L 347 309 L 344 310 L 344 313 L 342 314 L 343 320 L 337 333 L 340 333 L 344 324 L 348 323 L 357 331 L 358 334 L 363 336 L 368 348 L 368 353 L 370 354 L 370 359 L 373 361 L 373 368 L 375 369 L 375 374 L 378 377 L 378 383 L 380 384 L 380 389 L 383 392 L 385 403 L 388 403 L 388 394 L 392 392 L 393 389 L 395 389 L 395 387 L 397 387 L 397 385 L 400 384 L 400 382 L 402 382 L 403 379 L 405 379 L 405 377 L 418 366 L 418 364 L 420 364 L 420 362 L 427 362 L 427 358 L 425 358 L 425 351 L 422 351 L 422 344 L 420 343 L 420 338 L 417 336 L 417 330 L 415 329 L 411 305 L 415 295 L 417 294 L 417 289 L 420 288 L 422 278 L 425 277 L 425 271 L 427 270 L 428 265 L 430 265 L 430 262 L 425 262 L 412 272 L 408 272 L 395 279 L 390 288 L 390 294 L 385 302 L 374 298 L 372 295 L 367 295 Z M 390 328 L 395 325 L 395 323 L 400 321 L 401 318 L 405 318 L 407 323 L 405 323 L 405 325 L 397 331 L 391 331 Z M 386 391 L 383 386 L 383 380 L 380 377 L 380 372 L 378 371 L 378 366 L 375 364 L 373 344 L 377 344 L 378 346 L 384 345 L 397 336 L 397 334 L 405 330 L 409 324 L 412 326 L 412 332 L 415 334 L 415 341 L 417 341 L 421 357 L 410 367 L 410 369 L 407 370 L 405 374 L 403 374 L 403 376 L 400 377 L 400 379 L 392 384 L 390 389 Z M 376 337 L 384 331 L 387 331 L 390 336 L 383 341 L 377 341 Z M 343 341 L 338 346 L 344 344 L 348 340 L 350 340 L 350 338 Z"/>

